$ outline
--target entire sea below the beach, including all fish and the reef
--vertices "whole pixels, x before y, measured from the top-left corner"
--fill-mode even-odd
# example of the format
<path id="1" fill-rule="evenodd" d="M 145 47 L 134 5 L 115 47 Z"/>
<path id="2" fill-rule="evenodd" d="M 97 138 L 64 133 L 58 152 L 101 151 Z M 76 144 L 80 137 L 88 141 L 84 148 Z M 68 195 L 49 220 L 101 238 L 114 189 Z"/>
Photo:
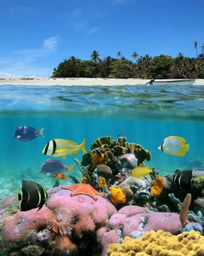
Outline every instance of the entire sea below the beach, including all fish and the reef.
<path id="1" fill-rule="evenodd" d="M 0 91 L 0 255 L 204 255 L 203 86 Z"/>

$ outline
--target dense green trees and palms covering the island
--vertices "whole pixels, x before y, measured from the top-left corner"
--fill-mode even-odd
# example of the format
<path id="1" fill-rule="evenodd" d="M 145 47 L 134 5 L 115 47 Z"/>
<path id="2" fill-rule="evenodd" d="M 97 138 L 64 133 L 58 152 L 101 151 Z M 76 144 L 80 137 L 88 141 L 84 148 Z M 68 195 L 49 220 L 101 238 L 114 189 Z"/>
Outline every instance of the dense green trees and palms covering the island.
<path id="1" fill-rule="evenodd" d="M 77 59 L 75 56 L 63 60 L 53 69 L 52 78 L 143 78 L 143 79 L 204 79 L 204 45 L 197 54 L 197 41 L 194 42 L 196 57 L 185 57 L 181 52 L 176 58 L 169 55 L 155 57 L 139 56 L 133 52 L 131 60 L 117 53 L 117 58 L 107 56 L 100 59 L 94 50 L 91 60 Z"/>

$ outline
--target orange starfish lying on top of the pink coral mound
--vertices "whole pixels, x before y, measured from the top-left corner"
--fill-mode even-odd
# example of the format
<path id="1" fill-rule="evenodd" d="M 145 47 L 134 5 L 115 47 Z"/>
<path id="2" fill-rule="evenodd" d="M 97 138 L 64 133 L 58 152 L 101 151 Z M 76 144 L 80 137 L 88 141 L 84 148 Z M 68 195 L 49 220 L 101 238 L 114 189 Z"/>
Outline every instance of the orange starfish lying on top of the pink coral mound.
<path id="1" fill-rule="evenodd" d="M 101 193 L 96 191 L 96 189 L 94 189 L 91 185 L 85 184 L 85 183 L 78 183 L 70 186 L 62 186 L 62 189 L 72 190 L 72 193 L 70 196 L 82 194 L 82 195 L 91 196 L 95 201 L 98 200 L 96 195 L 101 196 Z"/>

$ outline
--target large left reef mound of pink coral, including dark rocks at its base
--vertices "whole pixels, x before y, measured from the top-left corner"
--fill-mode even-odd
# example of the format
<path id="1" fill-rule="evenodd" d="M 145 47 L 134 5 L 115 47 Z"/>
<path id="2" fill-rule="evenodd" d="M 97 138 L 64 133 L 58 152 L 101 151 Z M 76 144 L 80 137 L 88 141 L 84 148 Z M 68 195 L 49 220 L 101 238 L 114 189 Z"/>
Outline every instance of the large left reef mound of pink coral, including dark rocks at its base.
<path id="1" fill-rule="evenodd" d="M 84 194 L 71 196 L 70 189 L 61 187 L 50 191 L 47 207 L 18 211 L 4 219 L 4 256 L 93 255 L 98 246 L 95 232 L 117 212 L 116 208 L 100 195 L 94 200 Z M 4 212 L 6 208 L 1 214 Z"/>

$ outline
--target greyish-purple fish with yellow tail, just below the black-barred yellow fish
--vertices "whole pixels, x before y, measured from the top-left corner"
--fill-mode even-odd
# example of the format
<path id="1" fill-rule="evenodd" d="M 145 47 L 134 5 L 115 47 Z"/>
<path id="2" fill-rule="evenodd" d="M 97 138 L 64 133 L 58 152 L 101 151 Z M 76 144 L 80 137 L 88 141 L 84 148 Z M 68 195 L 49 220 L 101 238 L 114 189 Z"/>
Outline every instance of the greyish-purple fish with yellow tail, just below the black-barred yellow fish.
<path id="1" fill-rule="evenodd" d="M 73 165 L 66 166 L 65 163 L 57 159 L 47 159 L 41 166 L 40 173 L 48 177 L 56 177 L 58 173 L 72 172 Z"/>

